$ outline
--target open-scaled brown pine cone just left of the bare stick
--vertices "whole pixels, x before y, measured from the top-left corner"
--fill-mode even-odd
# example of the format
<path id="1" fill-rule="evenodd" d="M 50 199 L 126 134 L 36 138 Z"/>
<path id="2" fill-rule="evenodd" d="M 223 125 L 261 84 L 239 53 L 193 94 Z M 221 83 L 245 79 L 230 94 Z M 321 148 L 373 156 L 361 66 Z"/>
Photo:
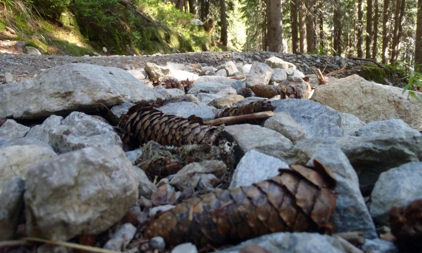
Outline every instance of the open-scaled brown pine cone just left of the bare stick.
<path id="1" fill-rule="evenodd" d="M 214 144 L 222 130 L 216 126 L 204 125 L 202 119 L 194 115 L 188 119 L 180 118 L 142 103 L 132 106 L 122 116 L 119 128 L 126 132 L 124 140 L 135 139 L 139 144 L 152 140 L 163 146 Z"/>

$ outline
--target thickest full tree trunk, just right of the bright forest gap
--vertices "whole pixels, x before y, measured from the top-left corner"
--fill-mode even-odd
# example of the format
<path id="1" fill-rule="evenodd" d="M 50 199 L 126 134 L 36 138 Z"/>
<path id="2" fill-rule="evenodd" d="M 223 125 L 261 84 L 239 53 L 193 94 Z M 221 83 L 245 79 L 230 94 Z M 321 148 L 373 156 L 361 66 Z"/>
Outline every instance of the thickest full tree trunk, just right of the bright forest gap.
<path id="1" fill-rule="evenodd" d="M 283 13 L 281 9 L 281 0 L 268 0 L 270 4 L 270 16 L 268 22 L 268 45 L 270 52 L 283 52 Z"/>

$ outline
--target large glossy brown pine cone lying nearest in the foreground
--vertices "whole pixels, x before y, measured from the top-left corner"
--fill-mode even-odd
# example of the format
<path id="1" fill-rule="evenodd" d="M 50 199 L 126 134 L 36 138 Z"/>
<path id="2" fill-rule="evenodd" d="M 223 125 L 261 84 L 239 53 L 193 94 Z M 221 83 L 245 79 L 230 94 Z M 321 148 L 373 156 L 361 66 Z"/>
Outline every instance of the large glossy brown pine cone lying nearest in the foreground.
<path id="1" fill-rule="evenodd" d="M 233 244 L 275 232 L 331 234 L 337 181 L 318 161 L 315 168 L 292 165 L 252 186 L 217 190 L 187 199 L 157 215 L 144 236 L 161 236 L 169 245 L 198 247 Z"/>

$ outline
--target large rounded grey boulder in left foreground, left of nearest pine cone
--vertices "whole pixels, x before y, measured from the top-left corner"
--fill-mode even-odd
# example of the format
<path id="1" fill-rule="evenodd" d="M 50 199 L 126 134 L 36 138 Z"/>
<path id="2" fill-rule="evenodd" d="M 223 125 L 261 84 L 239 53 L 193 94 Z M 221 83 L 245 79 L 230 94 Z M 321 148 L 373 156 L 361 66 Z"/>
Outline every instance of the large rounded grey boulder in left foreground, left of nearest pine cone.
<path id="1" fill-rule="evenodd" d="M 30 237 L 96 235 L 138 199 L 137 175 L 121 147 L 86 147 L 31 167 L 25 184 Z"/>

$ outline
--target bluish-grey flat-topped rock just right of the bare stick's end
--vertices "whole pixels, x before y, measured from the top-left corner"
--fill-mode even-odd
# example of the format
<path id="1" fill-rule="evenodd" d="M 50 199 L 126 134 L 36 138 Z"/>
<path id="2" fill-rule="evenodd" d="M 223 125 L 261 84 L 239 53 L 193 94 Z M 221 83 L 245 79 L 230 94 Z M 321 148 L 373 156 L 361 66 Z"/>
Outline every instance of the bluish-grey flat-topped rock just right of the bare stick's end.
<path id="1" fill-rule="evenodd" d="M 343 136 L 340 113 L 306 99 L 275 100 L 275 112 L 286 112 L 307 132 L 306 138 Z"/>

